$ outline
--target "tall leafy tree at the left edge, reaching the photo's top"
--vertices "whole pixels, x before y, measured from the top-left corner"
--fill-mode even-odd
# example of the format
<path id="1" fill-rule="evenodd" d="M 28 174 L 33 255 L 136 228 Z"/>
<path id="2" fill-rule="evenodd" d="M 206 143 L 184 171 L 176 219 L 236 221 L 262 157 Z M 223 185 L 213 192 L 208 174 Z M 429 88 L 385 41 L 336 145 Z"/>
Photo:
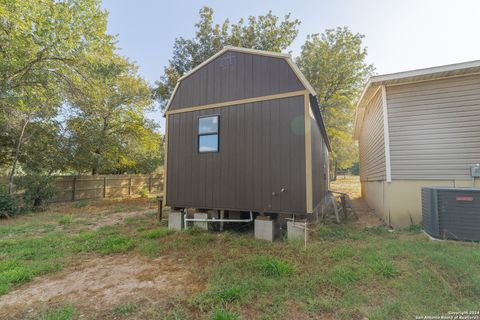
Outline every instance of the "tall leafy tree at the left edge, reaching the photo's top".
<path id="1" fill-rule="evenodd" d="M 25 133 L 54 118 L 63 89 L 84 79 L 88 52 L 113 50 L 99 0 L 5 0 L 0 3 L 0 141 L 9 151 L 12 190 Z"/>

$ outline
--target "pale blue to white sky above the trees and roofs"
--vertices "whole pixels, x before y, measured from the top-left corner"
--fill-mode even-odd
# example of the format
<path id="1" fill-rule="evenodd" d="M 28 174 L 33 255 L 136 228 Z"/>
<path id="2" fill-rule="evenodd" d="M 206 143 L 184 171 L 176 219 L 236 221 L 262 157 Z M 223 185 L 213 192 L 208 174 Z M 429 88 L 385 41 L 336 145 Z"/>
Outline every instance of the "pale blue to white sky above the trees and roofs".
<path id="1" fill-rule="evenodd" d="M 367 62 L 377 74 L 480 59 L 476 0 L 103 0 L 102 6 L 109 12 L 108 32 L 118 35 L 119 53 L 134 61 L 151 85 L 171 58 L 175 38 L 194 36 L 203 6 L 213 8 L 216 23 L 269 10 L 279 17 L 291 13 L 301 21 L 287 49 L 294 57 L 307 35 L 348 26 L 365 35 Z M 163 132 L 161 112 L 149 117 L 160 122 Z"/>

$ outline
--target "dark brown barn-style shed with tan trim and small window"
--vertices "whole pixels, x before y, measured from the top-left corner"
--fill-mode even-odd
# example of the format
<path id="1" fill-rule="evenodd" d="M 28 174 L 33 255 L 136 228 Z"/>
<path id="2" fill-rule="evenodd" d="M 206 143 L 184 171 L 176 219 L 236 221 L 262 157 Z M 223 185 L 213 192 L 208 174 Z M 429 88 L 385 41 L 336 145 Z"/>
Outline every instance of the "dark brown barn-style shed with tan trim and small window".
<path id="1" fill-rule="evenodd" d="M 171 207 L 305 214 L 328 190 L 329 140 L 289 55 L 226 47 L 178 81 L 165 116 Z"/>

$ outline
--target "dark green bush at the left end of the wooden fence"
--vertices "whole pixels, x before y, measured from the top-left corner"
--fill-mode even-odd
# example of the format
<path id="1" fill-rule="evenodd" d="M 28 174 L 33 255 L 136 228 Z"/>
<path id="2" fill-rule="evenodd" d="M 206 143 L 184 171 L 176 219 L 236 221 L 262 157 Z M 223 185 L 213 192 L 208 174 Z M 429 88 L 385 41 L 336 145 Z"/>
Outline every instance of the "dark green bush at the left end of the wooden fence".
<path id="1" fill-rule="evenodd" d="M 27 210 L 45 210 L 47 201 L 55 195 L 55 178 L 53 176 L 32 173 L 18 177 L 16 185 L 24 190 L 23 201 Z"/>

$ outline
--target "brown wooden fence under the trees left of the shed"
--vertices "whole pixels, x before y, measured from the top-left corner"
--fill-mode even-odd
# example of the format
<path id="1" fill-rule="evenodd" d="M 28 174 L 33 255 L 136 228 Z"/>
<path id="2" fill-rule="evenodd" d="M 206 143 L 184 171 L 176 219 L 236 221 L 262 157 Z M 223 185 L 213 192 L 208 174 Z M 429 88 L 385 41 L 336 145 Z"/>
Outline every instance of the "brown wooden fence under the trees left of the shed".
<path id="1" fill-rule="evenodd" d="M 6 178 L 0 178 L 0 184 L 5 183 Z M 58 176 L 55 179 L 55 189 L 51 202 L 127 197 L 139 194 L 142 189 L 152 194 L 160 194 L 163 192 L 163 176 L 161 174 Z M 17 192 L 15 193 L 21 193 L 20 190 Z"/>

